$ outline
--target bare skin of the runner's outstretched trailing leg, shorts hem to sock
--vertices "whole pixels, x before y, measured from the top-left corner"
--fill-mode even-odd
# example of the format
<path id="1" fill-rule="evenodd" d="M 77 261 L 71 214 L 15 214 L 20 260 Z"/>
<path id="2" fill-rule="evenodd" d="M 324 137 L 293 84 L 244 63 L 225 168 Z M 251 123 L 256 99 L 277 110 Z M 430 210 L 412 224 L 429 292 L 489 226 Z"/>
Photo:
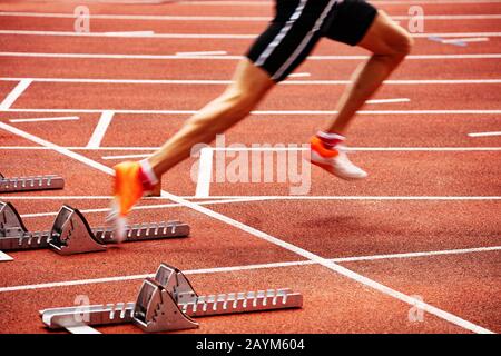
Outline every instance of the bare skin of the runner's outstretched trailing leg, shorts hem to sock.
<path id="1" fill-rule="evenodd" d="M 148 158 L 157 177 L 186 159 L 196 144 L 208 144 L 245 118 L 275 85 L 248 59 L 238 65 L 225 92 L 189 118 L 183 128 Z"/>

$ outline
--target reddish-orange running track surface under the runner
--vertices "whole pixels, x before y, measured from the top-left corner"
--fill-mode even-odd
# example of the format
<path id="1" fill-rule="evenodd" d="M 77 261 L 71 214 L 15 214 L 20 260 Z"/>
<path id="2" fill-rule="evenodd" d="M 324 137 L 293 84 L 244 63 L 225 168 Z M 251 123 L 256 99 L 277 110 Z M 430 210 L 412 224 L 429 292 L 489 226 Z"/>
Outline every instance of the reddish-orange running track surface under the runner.
<path id="1" fill-rule="evenodd" d="M 252 37 L 200 40 L 163 38 L 163 33 L 256 34 L 273 13 L 272 3 L 259 1 L 254 6 L 88 4 L 91 14 L 110 14 L 91 19 L 92 32 L 155 31 L 154 37 L 145 38 L 55 36 L 53 31 L 71 32 L 73 19 L 33 16 L 71 16 L 75 6 L 0 3 L 2 12 L 23 12 L 0 14 L 0 102 L 21 79 L 33 79 L 2 108 L 0 122 L 109 167 L 120 160 L 114 156 L 145 155 L 160 146 L 189 112 L 223 90 L 224 82 L 208 81 L 229 80 L 237 59 L 226 57 L 242 55 L 252 42 Z M 400 17 L 409 7 L 402 1 L 381 4 Z M 501 18 L 471 18 L 499 16 L 501 3 L 451 6 L 428 1 L 422 7 L 425 16 L 469 16 L 462 20 L 425 20 L 426 33 L 494 33 L 464 36 L 489 38 L 465 47 L 438 43 L 423 33 L 416 37 L 413 56 L 439 58 L 410 58 L 374 98 L 410 101 L 367 103 L 352 126 L 348 144 L 356 150 L 353 160 L 370 172 L 365 181 L 341 181 L 313 168 L 306 196 L 289 196 L 291 186 L 297 186 L 292 181 L 213 182 L 210 196 L 196 198 L 197 181 L 190 179 L 190 170 L 197 165 L 194 158 L 164 177 L 163 189 L 203 202 L 296 249 L 335 259 L 353 273 L 422 299 L 464 323 L 458 325 L 430 313 L 413 322 L 409 318 L 413 307 L 394 296 L 263 240 L 249 229 L 161 198 L 145 199 L 143 206 L 154 206 L 136 210 L 134 221 L 180 219 L 191 226 L 189 238 L 127 244 L 107 253 L 71 257 L 47 250 L 9 254 L 14 260 L 0 263 L 0 333 L 46 333 L 38 310 L 71 306 L 80 295 L 88 296 L 91 304 L 132 301 L 143 276 L 154 273 L 163 261 L 185 270 L 200 294 L 291 287 L 305 297 L 302 310 L 205 318 L 199 329 L 188 333 L 470 333 L 466 322 L 475 326 L 473 332 L 481 327 L 501 332 L 501 136 L 469 136 L 501 130 L 501 56 L 492 56 L 501 55 L 501 39 L 495 36 L 501 32 Z M 111 14 L 140 18 L 117 19 Z M 188 18 L 155 20 L 147 16 Z M 402 24 L 406 26 L 406 20 Z M 226 55 L 173 57 L 197 51 Z M 109 55 L 122 56 L 107 58 Z M 130 55 L 153 57 L 120 58 Z M 226 144 L 250 147 L 306 141 L 328 119 L 326 111 L 333 110 L 345 81 L 363 60 L 360 56 L 366 55 L 357 48 L 323 41 L 313 56 L 355 57 L 305 62 L 296 72 L 308 77 L 291 78 L 277 87 L 258 112 L 227 132 Z M 458 57 L 440 57 L 450 55 Z M 114 82 L 117 79 L 126 82 Z M 143 79 L 150 81 L 134 81 Z M 331 82 L 313 82 L 320 80 Z M 115 112 L 102 140 L 89 148 L 104 110 L 119 112 Z M 304 110 L 312 112 L 298 112 Z M 79 119 L 10 121 L 67 116 Z M 110 177 L 68 156 L 40 149 L 9 127 L 0 127 L 0 171 L 4 176 L 60 174 L 67 187 L 56 192 L 3 195 L 0 199 L 13 202 L 33 230 L 47 229 L 63 202 L 86 211 L 91 225 L 101 225 Z M 230 160 L 222 159 L 227 165 Z M 137 277 L 125 280 L 127 276 Z M 107 277 L 114 280 L 99 280 Z M 99 330 L 138 332 L 131 326 Z"/>

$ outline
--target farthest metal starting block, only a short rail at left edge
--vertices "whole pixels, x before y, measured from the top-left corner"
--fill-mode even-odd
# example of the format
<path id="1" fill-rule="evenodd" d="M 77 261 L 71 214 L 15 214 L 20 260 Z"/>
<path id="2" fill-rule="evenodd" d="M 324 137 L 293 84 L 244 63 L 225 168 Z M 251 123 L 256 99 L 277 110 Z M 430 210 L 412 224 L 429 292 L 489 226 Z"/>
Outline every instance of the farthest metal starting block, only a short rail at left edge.
<path id="1" fill-rule="evenodd" d="M 6 178 L 0 174 L 0 192 L 52 190 L 62 188 L 65 188 L 65 179 L 59 176 Z"/>

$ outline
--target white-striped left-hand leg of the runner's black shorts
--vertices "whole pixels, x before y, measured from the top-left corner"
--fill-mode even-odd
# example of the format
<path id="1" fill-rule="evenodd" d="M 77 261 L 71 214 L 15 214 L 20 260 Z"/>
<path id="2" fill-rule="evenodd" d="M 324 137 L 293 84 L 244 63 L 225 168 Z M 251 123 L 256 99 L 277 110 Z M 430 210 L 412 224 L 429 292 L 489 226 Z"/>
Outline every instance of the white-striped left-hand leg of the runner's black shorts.
<path id="1" fill-rule="evenodd" d="M 254 42 L 247 58 L 275 82 L 284 80 L 318 42 L 335 0 L 277 0 L 277 17 Z"/>

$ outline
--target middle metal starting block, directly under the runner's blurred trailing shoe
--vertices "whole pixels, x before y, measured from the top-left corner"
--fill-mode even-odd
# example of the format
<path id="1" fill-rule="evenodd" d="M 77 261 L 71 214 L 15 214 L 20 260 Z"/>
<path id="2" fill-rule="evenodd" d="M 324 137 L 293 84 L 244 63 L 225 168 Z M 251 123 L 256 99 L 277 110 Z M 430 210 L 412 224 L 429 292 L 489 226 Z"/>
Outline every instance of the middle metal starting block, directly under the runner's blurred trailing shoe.
<path id="1" fill-rule="evenodd" d="M 180 221 L 136 224 L 127 227 L 126 243 L 187 237 L 189 226 Z M 28 231 L 10 202 L 0 201 L 0 250 L 50 248 L 60 255 L 106 250 L 115 244 L 111 227 L 90 228 L 84 215 L 63 205 L 50 231 Z"/>

